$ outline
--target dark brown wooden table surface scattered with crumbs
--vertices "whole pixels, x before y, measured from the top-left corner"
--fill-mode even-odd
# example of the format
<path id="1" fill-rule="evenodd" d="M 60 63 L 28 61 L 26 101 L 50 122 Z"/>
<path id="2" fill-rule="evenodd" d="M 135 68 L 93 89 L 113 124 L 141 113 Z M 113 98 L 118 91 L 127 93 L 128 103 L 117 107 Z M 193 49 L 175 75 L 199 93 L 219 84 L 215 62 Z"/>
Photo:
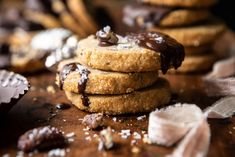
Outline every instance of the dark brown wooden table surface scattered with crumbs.
<path id="1" fill-rule="evenodd" d="M 119 135 L 122 129 L 130 129 L 131 133 L 147 130 L 148 118 L 137 120 L 140 115 L 118 116 L 117 121 L 113 117 L 105 117 L 105 125 L 111 126 L 114 132 L 114 141 L 117 146 L 110 151 L 100 152 L 97 150 L 97 140 L 93 137 L 99 131 L 84 131 L 81 118 L 87 113 L 78 110 L 74 106 L 67 110 L 57 110 L 55 104 L 69 103 L 63 91 L 55 85 L 55 74 L 43 72 L 35 76 L 28 76 L 31 82 L 31 90 L 9 112 L 8 116 L 1 119 L 0 123 L 0 155 L 5 153 L 15 156 L 17 153 L 17 139 L 27 131 L 37 126 L 52 125 L 60 128 L 65 133 L 74 132 L 74 142 L 67 146 L 69 152 L 66 156 L 165 156 L 174 147 L 166 148 L 156 145 L 148 145 L 138 140 L 136 146 L 141 150 L 138 154 L 132 153 L 132 136 L 127 139 Z M 218 98 L 207 97 L 204 93 L 199 75 L 166 75 L 173 91 L 172 103 L 195 103 L 202 109 L 211 105 Z M 47 86 L 55 87 L 56 92 L 50 93 Z M 145 114 L 148 115 L 148 114 Z M 235 118 L 228 120 L 209 121 L 211 128 L 211 145 L 209 157 L 232 157 L 235 156 Z M 85 133 L 88 132 L 88 133 Z M 87 140 L 91 138 L 91 140 Z M 195 139 L 196 140 L 196 139 Z M 40 152 L 34 156 L 44 156 L 47 152 Z"/>

